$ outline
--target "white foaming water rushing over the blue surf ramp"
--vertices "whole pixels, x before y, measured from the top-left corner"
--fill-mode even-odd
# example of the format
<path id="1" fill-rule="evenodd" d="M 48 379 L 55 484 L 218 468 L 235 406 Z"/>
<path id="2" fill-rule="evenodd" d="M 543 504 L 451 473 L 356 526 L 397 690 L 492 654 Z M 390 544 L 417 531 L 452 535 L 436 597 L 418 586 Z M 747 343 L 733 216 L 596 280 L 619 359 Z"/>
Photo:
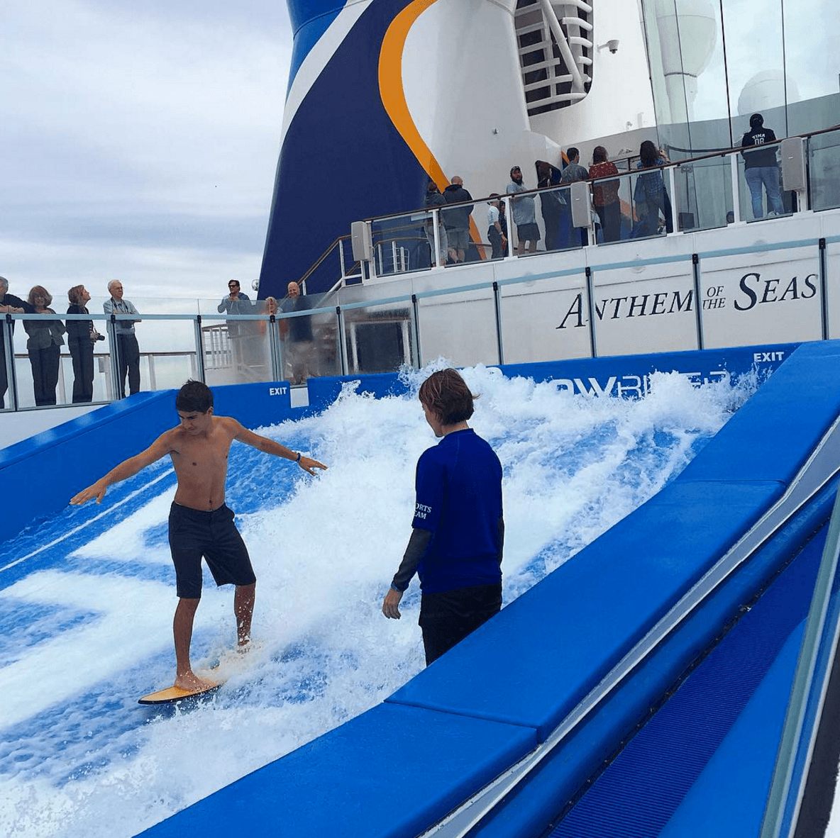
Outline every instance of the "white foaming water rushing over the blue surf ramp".
<path id="1" fill-rule="evenodd" d="M 411 374 L 414 393 L 440 365 Z M 622 401 L 464 374 L 480 394 L 470 424 L 505 469 L 506 603 L 678 474 L 754 386 L 657 374 L 648 397 Z M 329 470 L 310 479 L 232 449 L 228 505 L 259 579 L 260 646 L 190 710 L 136 704 L 174 675 L 170 464 L 0 546 L 0 835 L 135 835 L 423 667 L 416 582 L 401 621 L 380 611 L 410 534 L 417 457 L 435 443 L 416 396 L 345 388 L 322 416 L 262 432 Z M 233 645 L 232 600 L 205 576 L 196 668 Z"/>

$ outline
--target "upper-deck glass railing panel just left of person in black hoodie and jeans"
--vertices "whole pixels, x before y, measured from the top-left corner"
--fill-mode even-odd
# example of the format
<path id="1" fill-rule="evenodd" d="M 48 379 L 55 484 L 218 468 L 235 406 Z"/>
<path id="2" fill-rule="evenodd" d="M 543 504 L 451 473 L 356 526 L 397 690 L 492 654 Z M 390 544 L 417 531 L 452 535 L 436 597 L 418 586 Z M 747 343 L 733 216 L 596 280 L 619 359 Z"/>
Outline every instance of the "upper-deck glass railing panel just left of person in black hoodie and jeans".
<path id="1" fill-rule="evenodd" d="M 664 173 L 667 178 L 667 172 Z M 734 220 L 732 164 L 729 157 L 683 163 L 674 171 L 677 229 L 709 230 Z"/>

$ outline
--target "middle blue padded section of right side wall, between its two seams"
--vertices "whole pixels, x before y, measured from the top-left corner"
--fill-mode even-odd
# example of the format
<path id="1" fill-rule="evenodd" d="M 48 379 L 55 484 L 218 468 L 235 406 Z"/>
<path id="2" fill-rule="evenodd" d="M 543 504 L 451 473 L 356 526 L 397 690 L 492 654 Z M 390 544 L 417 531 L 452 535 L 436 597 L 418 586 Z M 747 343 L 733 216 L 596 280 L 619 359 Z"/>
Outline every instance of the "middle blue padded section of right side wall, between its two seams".
<path id="1" fill-rule="evenodd" d="M 782 488 L 671 484 L 386 700 L 543 740 Z"/>

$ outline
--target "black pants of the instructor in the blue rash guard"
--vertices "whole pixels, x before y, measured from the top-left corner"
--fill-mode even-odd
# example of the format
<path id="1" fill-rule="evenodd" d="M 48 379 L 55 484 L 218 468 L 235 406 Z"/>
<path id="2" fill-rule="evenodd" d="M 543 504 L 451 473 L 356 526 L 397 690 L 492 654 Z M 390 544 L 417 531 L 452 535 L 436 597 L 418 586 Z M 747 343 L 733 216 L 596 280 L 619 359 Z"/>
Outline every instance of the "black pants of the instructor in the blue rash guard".
<path id="1" fill-rule="evenodd" d="M 500 610 L 501 582 L 423 594 L 418 622 L 423 630 L 426 666 Z"/>

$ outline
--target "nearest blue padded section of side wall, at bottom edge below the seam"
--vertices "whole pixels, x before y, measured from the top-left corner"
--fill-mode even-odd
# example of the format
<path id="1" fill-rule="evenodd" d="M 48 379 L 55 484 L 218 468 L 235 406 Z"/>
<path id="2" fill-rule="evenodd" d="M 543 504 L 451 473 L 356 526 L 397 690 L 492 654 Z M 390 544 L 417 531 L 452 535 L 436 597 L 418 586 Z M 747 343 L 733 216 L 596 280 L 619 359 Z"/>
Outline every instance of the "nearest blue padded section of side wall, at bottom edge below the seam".
<path id="1" fill-rule="evenodd" d="M 142 835 L 406 838 L 535 745 L 528 728 L 379 704 Z"/>

